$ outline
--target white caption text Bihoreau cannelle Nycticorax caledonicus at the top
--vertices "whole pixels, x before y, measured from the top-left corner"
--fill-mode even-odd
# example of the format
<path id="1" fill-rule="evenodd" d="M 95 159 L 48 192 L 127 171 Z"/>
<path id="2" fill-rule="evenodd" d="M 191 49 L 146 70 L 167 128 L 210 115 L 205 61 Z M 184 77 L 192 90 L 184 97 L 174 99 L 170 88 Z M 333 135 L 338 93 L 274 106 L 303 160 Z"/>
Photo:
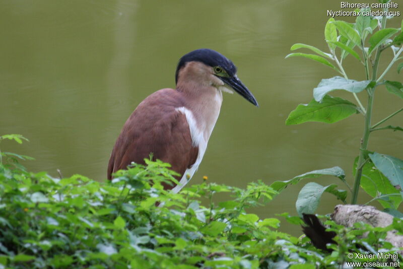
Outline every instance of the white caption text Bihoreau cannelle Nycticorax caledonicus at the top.
<path id="1" fill-rule="evenodd" d="M 400 16 L 400 11 L 390 11 L 390 10 L 376 10 L 372 11 L 371 9 L 397 9 L 398 4 L 395 2 L 390 2 L 386 4 L 382 3 L 349 3 L 349 2 L 341 2 L 340 8 L 342 9 L 366 9 L 366 10 L 355 10 L 355 11 L 333 11 L 327 10 L 327 16 L 332 18 L 336 16 Z"/>

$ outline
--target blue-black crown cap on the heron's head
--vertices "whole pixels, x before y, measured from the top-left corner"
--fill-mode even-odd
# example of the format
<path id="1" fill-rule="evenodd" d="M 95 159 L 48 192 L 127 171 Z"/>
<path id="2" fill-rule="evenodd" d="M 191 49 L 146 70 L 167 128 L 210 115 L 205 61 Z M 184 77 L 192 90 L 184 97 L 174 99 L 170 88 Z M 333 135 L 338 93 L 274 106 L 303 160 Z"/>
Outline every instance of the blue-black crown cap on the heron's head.
<path id="1" fill-rule="evenodd" d="M 200 48 L 190 51 L 180 58 L 178 66 L 176 67 L 175 83 L 178 83 L 179 70 L 189 61 L 200 61 L 212 67 L 221 66 L 230 77 L 233 77 L 236 74 L 236 66 L 230 59 L 215 50 Z"/>

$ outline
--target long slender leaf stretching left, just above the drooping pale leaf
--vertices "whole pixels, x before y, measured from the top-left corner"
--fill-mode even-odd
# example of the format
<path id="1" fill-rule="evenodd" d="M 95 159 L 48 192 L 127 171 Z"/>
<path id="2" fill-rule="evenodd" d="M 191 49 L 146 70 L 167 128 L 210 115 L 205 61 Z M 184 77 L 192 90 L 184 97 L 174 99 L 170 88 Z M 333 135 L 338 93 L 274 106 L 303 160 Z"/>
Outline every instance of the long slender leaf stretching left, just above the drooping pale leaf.
<path id="1" fill-rule="evenodd" d="M 275 181 L 273 182 L 270 186 L 277 190 L 277 191 L 282 191 L 284 188 L 286 188 L 288 185 L 294 185 L 297 184 L 301 179 L 304 178 L 315 178 L 319 177 L 322 175 L 330 175 L 330 176 L 335 176 L 338 177 L 342 180 L 344 180 L 346 174 L 344 173 L 344 170 L 340 168 L 339 166 L 334 166 L 331 168 L 326 168 L 326 169 L 320 169 L 320 170 L 314 170 L 310 171 L 301 175 L 298 175 L 296 177 L 293 177 L 290 180 L 286 181 Z"/>

